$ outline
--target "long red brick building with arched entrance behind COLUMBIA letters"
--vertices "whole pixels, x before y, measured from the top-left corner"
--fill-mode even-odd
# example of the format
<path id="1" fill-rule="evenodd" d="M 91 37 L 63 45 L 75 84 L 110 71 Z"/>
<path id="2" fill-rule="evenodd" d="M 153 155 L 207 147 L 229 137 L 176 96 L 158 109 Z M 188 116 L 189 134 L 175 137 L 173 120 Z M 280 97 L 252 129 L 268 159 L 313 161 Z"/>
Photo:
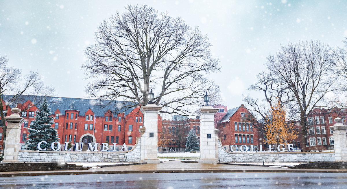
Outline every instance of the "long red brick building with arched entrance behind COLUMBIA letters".
<path id="1" fill-rule="evenodd" d="M 30 99 L 30 96 L 27 96 Z M 52 127 L 58 130 L 60 143 L 64 146 L 64 142 L 71 142 L 74 146 L 75 142 L 88 143 L 117 143 L 116 149 L 121 149 L 123 143 L 130 150 L 136 143 L 136 137 L 140 136 L 138 129 L 143 126 L 143 114 L 139 107 L 125 110 L 121 114 L 112 114 L 112 106 L 103 106 L 101 101 L 94 99 L 81 98 L 62 98 L 47 97 L 49 107 L 54 117 Z M 107 103 L 107 102 L 105 102 Z M 18 103 L 19 109 L 25 109 L 32 102 L 27 100 Z M 7 108 L 7 115 L 12 114 Z M 6 109 L 6 107 L 5 107 Z M 22 124 L 22 133 L 20 142 L 21 149 L 25 149 L 25 141 L 28 137 L 27 127 L 35 118 L 37 107 L 30 107 L 22 112 L 21 116 L 26 120 Z M 2 136 L 2 127 L 0 127 L 0 136 Z M 2 137 L 0 142 L 2 143 Z M 87 147 L 87 145 L 84 145 Z M 100 147 L 100 145 L 99 145 Z M 113 149 L 113 145 L 110 144 Z M 86 150 L 86 149 L 85 149 Z"/>

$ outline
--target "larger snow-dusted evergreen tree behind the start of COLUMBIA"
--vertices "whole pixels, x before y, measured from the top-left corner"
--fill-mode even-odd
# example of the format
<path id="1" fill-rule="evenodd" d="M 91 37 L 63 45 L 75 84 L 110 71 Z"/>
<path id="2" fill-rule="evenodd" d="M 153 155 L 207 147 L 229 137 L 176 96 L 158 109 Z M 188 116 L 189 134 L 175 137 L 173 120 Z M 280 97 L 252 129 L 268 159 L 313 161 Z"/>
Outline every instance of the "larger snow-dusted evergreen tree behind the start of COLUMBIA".
<path id="1" fill-rule="evenodd" d="M 54 123 L 54 118 L 50 117 L 51 115 L 51 108 L 48 107 L 47 99 L 44 99 L 39 109 L 35 111 L 35 120 L 28 128 L 29 139 L 25 143 L 28 145 L 27 150 L 38 150 L 37 143 L 46 141 L 47 144 L 42 143 L 41 148 L 46 147 L 47 151 L 51 151 L 52 143 L 59 141 L 57 130 L 51 127 Z"/>

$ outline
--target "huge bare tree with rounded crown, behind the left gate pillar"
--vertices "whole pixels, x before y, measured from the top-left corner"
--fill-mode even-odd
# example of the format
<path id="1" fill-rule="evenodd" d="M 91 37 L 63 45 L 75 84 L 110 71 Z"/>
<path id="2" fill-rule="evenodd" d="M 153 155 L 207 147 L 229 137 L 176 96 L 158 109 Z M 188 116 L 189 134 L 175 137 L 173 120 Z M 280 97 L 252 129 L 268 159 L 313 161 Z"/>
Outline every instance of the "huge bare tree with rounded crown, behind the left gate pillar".
<path id="1" fill-rule="evenodd" d="M 149 102 L 151 88 L 162 112 L 187 115 L 187 105 L 201 104 L 206 91 L 217 95 L 218 86 L 206 76 L 220 70 L 208 37 L 179 17 L 130 5 L 103 21 L 95 35 L 82 66 L 86 79 L 94 79 L 86 87 L 90 97 L 132 108 Z"/>

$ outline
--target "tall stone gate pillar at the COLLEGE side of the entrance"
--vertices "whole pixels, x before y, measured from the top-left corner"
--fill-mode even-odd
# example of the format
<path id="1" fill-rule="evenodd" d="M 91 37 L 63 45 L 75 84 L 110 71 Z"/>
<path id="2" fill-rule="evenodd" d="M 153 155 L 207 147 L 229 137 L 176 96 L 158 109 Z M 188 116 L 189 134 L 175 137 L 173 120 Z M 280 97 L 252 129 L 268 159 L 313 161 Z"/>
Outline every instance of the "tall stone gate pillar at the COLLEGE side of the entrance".
<path id="1" fill-rule="evenodd" d="M 195 111 L 200 116 L 199 163 L 217 163 L 218 161 L 218 157 L 216 157 L 216 137 L 214 131 L 214 114 L 218 110 L 217 108 L 212 108 L 212 106 L 203 106 Z"/>

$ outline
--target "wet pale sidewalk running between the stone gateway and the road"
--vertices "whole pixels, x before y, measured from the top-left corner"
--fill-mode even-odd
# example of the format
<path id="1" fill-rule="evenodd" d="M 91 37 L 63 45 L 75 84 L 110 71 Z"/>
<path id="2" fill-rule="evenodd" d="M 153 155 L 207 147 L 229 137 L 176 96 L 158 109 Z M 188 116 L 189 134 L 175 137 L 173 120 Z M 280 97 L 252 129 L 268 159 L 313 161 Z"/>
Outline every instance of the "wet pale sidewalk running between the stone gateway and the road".
<path id="1" fill-rule="evenodd" d="M 201 164 L 181 163 L 167 161 L 159 164 L 125 165 L 115 167 L 96 168 L 89 170 L 66 171 L 15 171 L 0 172 L 0 177 L 34 176 L 34 175 L 69 175 L 69 174 L 119 174 L 119 173 L 201 173 L 201 172 L 324 172 L 347 173 L 346 169 L 288 169 L 262 166 L 225 165 L 225 164 Z"/>

